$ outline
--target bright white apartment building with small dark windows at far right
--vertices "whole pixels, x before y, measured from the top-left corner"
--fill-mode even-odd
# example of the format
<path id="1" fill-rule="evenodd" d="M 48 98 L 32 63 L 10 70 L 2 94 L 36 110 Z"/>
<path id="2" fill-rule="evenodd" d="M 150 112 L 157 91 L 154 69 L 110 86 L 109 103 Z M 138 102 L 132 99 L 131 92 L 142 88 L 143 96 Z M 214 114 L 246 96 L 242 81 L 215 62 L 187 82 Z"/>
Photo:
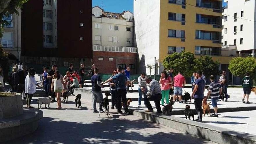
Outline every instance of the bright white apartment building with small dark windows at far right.
<path id="1" fill-rule="evenodd" d="M 256 49 L 255 0 L 225 0 L 222 15 L 222 54 L 253 56 Z"/>

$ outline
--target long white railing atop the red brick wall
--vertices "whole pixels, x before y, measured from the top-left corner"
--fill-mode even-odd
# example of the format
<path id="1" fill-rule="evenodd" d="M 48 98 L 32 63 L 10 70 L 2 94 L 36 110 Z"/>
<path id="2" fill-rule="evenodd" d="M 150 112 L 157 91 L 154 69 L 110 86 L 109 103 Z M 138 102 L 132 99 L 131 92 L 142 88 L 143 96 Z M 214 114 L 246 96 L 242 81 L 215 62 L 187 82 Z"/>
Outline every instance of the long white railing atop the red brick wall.
<path id="1" fill-rule="evenodd" d="M 93 51 L 110 51 L 110 52 L 131 52 L 136 53 L 136 47 L 115 47 L 115 46 L 103 46 L 93 45 Z"/>

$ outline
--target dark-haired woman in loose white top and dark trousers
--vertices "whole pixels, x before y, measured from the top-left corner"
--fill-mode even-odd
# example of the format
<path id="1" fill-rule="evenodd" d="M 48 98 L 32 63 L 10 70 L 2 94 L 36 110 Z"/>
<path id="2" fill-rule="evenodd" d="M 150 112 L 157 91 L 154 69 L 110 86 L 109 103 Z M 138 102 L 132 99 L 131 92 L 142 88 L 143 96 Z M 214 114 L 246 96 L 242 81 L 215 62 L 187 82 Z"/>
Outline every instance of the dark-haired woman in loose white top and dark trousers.
<path id="1" fill-rule="evenodd" d="M 29 74 L 26 76 L 25 79 L 25 93 L 27 93 L 27 107 L 34 108 L 33 106 L 30 106 L 31 99 L 35 93 L 36 86 L 39 88 L 42 88 L 37 84 L 35 81 L 35 70 L 33 68 L 29 69 Z"/>

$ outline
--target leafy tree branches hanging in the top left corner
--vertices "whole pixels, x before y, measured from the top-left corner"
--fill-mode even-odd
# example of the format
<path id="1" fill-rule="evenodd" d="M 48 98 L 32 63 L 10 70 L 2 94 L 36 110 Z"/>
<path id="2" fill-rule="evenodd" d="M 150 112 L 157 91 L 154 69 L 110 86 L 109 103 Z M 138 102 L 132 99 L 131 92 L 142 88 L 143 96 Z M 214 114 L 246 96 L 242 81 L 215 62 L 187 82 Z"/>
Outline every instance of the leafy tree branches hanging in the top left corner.
<path id="1" fill-rule="evenodd" d="M 3 26 L 8 25 L 6 20 L 2 20 L 3 16 L 9 16 L 16 13 L 19 15 L 19 8 L 28 0 L 0 0 L 0 38 L 3 37 Z"/>

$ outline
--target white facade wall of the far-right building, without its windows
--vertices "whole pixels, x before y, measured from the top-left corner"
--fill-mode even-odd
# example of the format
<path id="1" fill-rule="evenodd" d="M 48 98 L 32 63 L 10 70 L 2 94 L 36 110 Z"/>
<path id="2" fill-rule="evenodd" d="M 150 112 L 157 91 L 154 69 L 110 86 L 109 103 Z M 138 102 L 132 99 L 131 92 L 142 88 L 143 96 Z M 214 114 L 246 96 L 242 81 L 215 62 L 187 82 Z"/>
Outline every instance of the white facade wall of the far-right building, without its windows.
<path id="1" fill-rule="evenodd" d="M 243 11 L 243 19 L 241 17 L 241 11 Z M 222 42 L 225 45 L 234 45 L 234 39 L 237 40 L 237 50 L 249 50 L 256 49 L 255 41 L 255 0 L 244 1 L 244 0 L 228 0 L 228 7 L 224 10 L 223 14 L 232 15 L 237 13 L 237 21 L 234 21 L 234 17 L 227 16 L 227 21 L 224 22 L 222 19 L 222 24 L 224 29 L 227 28 L 227 34 L 224 34 L 224 29 L 222 30 L 223 39 Z M 225 16 L 225 15 L 224 15 Z M 249 19 L 252 21 L 248 21 Z M 240 31 L 240 25 L 243 24 L 243 31 Z M 234 35 L 234 26 L 237 26 L 237 34 Z M 240 45 L 240 38 L 243 38 L 243 45 Z"/>

